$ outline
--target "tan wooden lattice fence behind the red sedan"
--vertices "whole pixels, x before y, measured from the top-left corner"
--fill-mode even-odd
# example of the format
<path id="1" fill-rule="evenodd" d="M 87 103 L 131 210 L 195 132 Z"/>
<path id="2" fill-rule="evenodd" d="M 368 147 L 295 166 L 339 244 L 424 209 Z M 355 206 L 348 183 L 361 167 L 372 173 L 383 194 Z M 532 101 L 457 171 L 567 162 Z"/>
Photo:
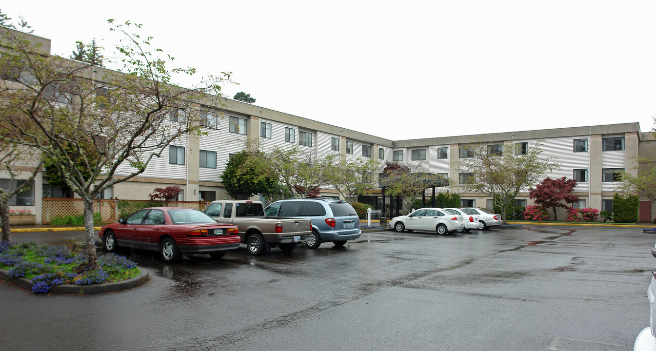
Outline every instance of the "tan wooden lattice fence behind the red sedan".
<path id="1" fill-rule="evenodd" d="M 143 209 L 144 207 L 162 205 L 163 203 L 159 201 L 148 200 L 94 199 L 93 201 L 94 212 L 100 213 L 104 223 L 114 222 L 115 220 L 118 220 L 121 217 L 126 217 L 134 211 Z M 207 203 L 204 201 L 171 201 L 169 206 L 204 211 L 205 207 L 207 207 Z M 83 215 L 84 203 L 82 202 L 82 199 L 44 197 L 43 211 L 41 213 L 43 224 L 49 224 L 52 218 Z"/>

